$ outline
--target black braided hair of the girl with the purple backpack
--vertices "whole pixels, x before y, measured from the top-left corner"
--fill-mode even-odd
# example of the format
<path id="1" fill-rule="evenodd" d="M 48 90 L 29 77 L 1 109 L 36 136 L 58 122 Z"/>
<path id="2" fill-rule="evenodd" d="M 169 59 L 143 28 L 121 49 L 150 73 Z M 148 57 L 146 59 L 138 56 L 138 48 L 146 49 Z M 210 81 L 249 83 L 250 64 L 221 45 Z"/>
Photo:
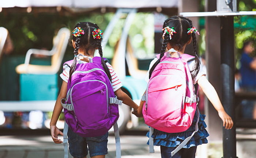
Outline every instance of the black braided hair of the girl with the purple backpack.
<path id="1" fill-rule="evenodd" d="M 92 34 L 94 29 L 99 29 L 98 25 L 90 23 L 90 22 L 80 22 L 75 25 L 74 29 L 76 27 L 82 28 L 84 31 L 84 35 L 77 36 L 77 37 L 72 35 L 72 39 L 75 42 L 75 50 L 74 50 L 75 58 L 70 67 L 69 80 L 71 80 L 71 76 L 76 68 L 76 55 L 78 55 L 78 50 L 82 49 L 86 54 L 89 55 L 88 51 L 94 50 L 96 48 L 98 48 L 99 55 L 101 56 L 101 64 L 102 64 L 106 74 L 108 75 L 108 78 L 111 80 L 111 75 L 110 75 L 108 66 L 106 65 L 106 62 L 103 59 L 103 52 L 102 52 L 102 47 L 101 47 L 102 38 L 94 39 L 93 34 Z"/>

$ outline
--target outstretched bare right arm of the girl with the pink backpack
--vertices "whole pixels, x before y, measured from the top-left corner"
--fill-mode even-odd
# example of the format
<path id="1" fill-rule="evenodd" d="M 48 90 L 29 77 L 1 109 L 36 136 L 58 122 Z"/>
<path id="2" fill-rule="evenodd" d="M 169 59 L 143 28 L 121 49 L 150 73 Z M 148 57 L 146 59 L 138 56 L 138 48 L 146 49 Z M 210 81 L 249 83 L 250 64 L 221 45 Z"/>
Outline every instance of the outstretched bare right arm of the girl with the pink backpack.
<path id="1" fill-rule="evenodd" d="M 219 100 L 219 96 L 215 90 L 215 88 L 212 86 L 212 84 L 206 79 L 206 77 L 203 75 L 198 80 L 197 83 L 202 88 L 204 94 L 207 96 L 207 98 L 210 100 L 214 108 L 218 111 L 219 117 L 223 121 L 223 126 L 226 129 L 231 129 L 233 127 L 233 121 L 231 117 L 225 112 L 221 101 Z"/>

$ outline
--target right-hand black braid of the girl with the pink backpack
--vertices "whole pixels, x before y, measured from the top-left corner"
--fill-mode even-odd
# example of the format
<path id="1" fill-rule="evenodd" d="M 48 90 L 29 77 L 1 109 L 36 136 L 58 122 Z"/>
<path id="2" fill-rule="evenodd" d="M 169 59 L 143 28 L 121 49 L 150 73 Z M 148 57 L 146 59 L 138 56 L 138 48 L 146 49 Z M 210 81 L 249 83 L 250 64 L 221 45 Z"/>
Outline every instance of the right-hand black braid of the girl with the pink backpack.
<path id="1" fill-rule="evenodd" d="M 190 28 L 192 28 L 193 27 L 192 21 L 188 18 L 186 18 L 186 19 L 189 22 Z M 200 70 L 200 60 L 198 58 L 197 51 L 196 51 L 196 35 L 195 35 L 195 33 L 191 33 L 191 36 L 192 36 L 193 48 L 194 48 L 194 52 L 195 52 L 195 65 L 194 65 L 193 70 L 190 72 L 191 72 L 192 78 L 194 79 Z"/>

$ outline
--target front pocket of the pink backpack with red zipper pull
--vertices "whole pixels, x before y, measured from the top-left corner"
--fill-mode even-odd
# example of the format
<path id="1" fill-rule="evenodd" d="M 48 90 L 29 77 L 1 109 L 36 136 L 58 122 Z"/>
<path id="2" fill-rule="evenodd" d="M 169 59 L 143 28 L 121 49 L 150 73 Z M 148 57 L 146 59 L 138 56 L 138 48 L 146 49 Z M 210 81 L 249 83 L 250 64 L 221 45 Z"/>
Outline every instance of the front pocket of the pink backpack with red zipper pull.
<path id="1" fill-rule="evenodd" d="M 185 82 L 177 75 L 158 75 L 148 83 L 147 115 L 156 120 L 172 120 L 181 116 Z M 183 79 L 183 81 L 185 81 Z"/>

